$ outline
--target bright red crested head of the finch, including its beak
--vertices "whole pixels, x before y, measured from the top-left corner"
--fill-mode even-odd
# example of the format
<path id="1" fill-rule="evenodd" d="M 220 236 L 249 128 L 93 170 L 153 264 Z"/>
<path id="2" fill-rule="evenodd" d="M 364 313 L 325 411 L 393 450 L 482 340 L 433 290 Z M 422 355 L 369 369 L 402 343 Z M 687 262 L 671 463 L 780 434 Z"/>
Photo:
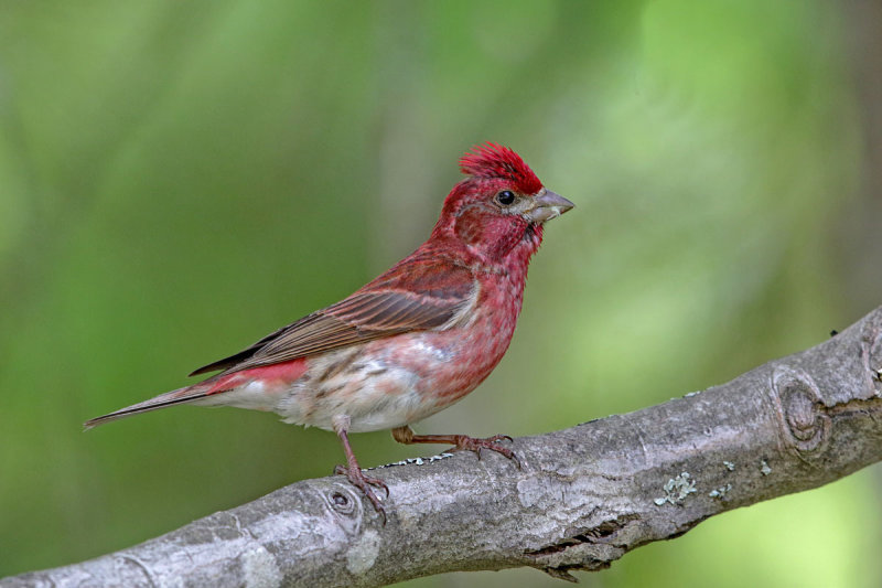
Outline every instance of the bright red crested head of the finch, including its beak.
<path id="1" fill-rule="evenodd" d="M 469 178 L 448 194 L 432 234 L 455 237 L 491 257 L 505 257 L 518 245 L 531 255 L 542 225 L 573 207 L 507 147 L 476 146 L 460 159 L 460 170 Z"/>

